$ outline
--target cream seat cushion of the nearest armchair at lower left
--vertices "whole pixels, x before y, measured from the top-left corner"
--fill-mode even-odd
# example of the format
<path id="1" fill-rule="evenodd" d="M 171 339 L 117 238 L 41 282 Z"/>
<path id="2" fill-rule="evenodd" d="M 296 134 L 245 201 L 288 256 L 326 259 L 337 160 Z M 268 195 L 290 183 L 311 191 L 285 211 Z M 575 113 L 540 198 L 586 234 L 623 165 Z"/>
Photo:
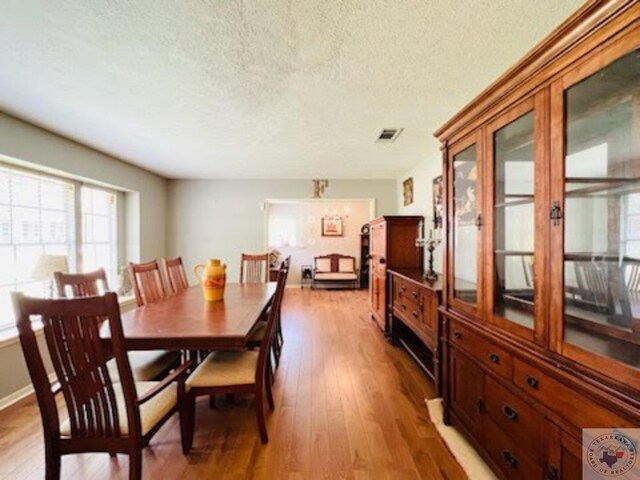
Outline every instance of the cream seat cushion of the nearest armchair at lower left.
<path id="1" fill-rule="evenodd" d="M 136 382 L 136 392 L 141 397 L 160 382 Z M 124 401 L 124 392 L 120 383 L 114 383 L 113 393 L 116 397 L 116 407 L 118 409 L 118 423 L 120 434 L 126 437 L 129 434 L 129 422 L 127 421 L 127 407 Z M 176 382 L 168 385 L 151 400 L 140 405 L 140 425 L 142 435 L 146 435 L 156 424 L 178 404 L 178 384 Z M 65 420 L 60 425 L 60 433 L 64 437 L 71 436 L 71 422 Z"/>

